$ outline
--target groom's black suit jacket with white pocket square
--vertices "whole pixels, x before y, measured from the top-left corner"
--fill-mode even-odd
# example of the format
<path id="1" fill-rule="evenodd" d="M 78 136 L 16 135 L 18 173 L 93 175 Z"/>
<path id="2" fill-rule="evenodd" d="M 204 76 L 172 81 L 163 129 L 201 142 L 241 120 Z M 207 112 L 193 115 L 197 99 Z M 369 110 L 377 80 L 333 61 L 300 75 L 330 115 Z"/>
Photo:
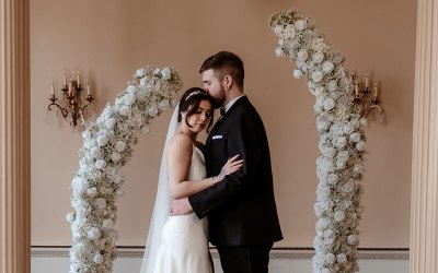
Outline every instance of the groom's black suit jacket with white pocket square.
<path id="1" fill-rule="evenodd" d="M 263 121 L 246 96 L 217 121 L 205 146 L 208 176 L 231 156 L 243 167 L 188 198 L 199 218 L 208 216 L 216 246 L 253 246 L 283 239 L 274 199 L 269 146 Z"/>

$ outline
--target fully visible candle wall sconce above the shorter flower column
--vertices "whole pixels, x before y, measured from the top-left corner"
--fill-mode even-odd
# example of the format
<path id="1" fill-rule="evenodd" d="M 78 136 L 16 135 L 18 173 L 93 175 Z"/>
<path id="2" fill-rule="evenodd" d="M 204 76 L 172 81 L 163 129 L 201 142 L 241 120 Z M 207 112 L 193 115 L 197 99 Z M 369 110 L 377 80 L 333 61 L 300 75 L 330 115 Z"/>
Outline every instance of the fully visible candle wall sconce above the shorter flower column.
<path id="1" fill-rule="evenodd" d="M 62 117 L 70 122 L 70 126 L 73 128 L 77 127 L 78 124 L 78 119 L 80 118 L 82 121 L 84 121 L 84 111 L 85 108 L 91 106 L 93 110 L 95 110 L 95 106 L 92 103 L 94 100 L 94 97 L 91 95 L 91 84 L 89 83 L 87 79 L 87 100 L 88 103 L 82 106 L 82 98 L 81 98 L 81 79 L 80 79 L 80 73 L 78 71 L 77 74 L 77 80 L 70 80 L 69 79 L 69 85 L 67 85 L 67 74 L 66 71 L 64 71 L 64 79 L 62 79 L 62 93 L 64 93 L 64 98 L 67 99 L 67 105 L 65 107 L 60 106 L 59 104 L 56 103 L 58 99 L 55 96 L 55 84 L 54 81 L 51 81 L 51 92 L 50 92 L 50 97 L 48 98 L 51 100 L 51 103 L 48 105 L 47 109 L 51 110 L 51 106 L 56 106 L 59 108 L 59 110 L 62 114 Z"/>

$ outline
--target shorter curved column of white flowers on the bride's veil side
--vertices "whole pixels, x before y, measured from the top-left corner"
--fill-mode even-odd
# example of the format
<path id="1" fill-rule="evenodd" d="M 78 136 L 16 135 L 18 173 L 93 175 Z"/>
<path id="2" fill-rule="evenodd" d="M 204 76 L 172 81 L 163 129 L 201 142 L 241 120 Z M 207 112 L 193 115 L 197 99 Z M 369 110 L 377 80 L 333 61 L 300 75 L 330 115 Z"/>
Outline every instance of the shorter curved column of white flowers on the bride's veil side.
<path id="1" fill-rule="evenodd" d="M 79 169 L 71 182 L 70 272 L 112 272 L 116 258 L 116 199 L 123 195 L 122 167 L 131 158 L 138 135 L 149 132 L 150 121 L 170 106 L 182 88 L 173 68 L 146 67 L 107 104 L 82 133 Z"/>

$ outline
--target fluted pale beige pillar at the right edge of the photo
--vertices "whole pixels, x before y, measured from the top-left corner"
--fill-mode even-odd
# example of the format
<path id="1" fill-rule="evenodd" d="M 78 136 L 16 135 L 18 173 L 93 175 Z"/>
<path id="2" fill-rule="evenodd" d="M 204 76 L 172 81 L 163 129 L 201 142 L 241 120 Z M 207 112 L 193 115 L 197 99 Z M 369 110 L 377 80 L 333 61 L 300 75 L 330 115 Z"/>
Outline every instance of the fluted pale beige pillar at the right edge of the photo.
<path id="1" fill-rule="evenodd" d="M 438 1 L 418 0 L 410 272 L 438 272 Z"/>

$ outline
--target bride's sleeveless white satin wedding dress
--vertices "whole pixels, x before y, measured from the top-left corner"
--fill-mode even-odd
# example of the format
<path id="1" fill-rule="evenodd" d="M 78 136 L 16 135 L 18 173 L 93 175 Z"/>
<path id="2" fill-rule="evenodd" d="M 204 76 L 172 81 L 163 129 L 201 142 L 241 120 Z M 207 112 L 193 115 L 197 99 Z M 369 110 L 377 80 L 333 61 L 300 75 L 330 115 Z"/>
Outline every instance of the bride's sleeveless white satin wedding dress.
<path id="1" fill-rule="evenodd" d="M 189 180 L 206 178 L 203 152 L 195 147 L 192 154 Z M 195 213 L 169 216 L 160 237 L 154 273 L 211 273 L 208 250 L 207 218 Z"/>

